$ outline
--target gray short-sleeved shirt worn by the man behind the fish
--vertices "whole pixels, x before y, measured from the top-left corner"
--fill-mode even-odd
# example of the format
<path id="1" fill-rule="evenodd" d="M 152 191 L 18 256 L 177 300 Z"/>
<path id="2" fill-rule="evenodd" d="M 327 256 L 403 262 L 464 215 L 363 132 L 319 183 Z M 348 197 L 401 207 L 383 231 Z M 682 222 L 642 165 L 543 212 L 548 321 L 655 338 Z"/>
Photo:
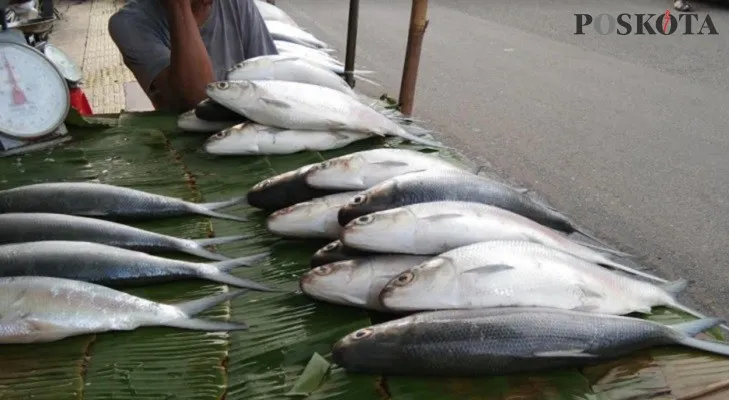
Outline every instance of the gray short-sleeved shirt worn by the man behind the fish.
<path id="1" fill-rule="evenodd" d="M 170 65 L 170 31 L 160 0 L 130 0 L 109 19 L 109 34 L 124 64 L 150 98 L 150 85 Z M 200 28 L 216 80 L 233 65 L 257 56 L 278 54 L 253 0 L 213 0 Z"/>

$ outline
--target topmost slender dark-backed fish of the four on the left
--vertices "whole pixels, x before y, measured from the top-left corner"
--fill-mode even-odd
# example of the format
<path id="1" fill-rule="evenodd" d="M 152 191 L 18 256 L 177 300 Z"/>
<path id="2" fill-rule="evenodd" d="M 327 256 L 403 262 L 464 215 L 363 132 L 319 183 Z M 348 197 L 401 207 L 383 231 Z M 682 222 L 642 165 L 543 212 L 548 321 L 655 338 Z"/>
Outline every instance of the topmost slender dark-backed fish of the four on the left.
<path id="1" fill-rule="evenodd" d="M 123 186 L 91 182 L 35 183 L 0 190 L 2 213 L 53 213 L 110 220 L 142 220 L 182 215 L 246 221 L 215 210 L 245 201 L 236 197 L 215 203 L 191 203 Z"/>

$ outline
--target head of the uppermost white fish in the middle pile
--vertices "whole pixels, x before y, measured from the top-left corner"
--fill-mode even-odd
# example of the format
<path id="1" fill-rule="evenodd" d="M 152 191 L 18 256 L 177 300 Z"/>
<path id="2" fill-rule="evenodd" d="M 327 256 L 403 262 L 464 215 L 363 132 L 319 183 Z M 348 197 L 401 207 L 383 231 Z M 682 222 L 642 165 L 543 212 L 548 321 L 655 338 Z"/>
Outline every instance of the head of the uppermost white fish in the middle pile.
<path id="1" fill-rule="evenodd" d="M 306 176 L 306 183 L 313 187 L 332 189 L 367 189 L 359 172 L 362 163 L 356 154 L 333 158 L 321 163 Z"/>

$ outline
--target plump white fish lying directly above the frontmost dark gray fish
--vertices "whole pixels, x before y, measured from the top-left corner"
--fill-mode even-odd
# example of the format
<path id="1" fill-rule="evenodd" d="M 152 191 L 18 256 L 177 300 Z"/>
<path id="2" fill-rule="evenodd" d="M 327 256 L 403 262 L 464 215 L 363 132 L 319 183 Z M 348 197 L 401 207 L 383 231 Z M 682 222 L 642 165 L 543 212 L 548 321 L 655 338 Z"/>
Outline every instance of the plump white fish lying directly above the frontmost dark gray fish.
<path id="1" fill-rule="evenodd" d="M 678 302 L 679 279 L 661 286 L 617 274 L 539 243 L 494 240 L 447 251 L 387 283 L 393 311 L 552 307 L 603 314 L 649 314 L 664 306 L 705 318 Z"/>

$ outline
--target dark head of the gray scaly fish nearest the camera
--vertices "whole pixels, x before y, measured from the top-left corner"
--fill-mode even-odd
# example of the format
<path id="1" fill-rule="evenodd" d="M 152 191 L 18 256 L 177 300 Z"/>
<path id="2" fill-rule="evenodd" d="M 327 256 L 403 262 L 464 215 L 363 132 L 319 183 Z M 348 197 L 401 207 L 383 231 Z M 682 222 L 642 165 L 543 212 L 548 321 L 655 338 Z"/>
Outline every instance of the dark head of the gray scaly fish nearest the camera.
<path id="1" fill-rule="evenodd" d="M 332 346 L 334 362 L 352 372 L 383 371 L 403 358 L 411 317 L 358 329 Z"/>

